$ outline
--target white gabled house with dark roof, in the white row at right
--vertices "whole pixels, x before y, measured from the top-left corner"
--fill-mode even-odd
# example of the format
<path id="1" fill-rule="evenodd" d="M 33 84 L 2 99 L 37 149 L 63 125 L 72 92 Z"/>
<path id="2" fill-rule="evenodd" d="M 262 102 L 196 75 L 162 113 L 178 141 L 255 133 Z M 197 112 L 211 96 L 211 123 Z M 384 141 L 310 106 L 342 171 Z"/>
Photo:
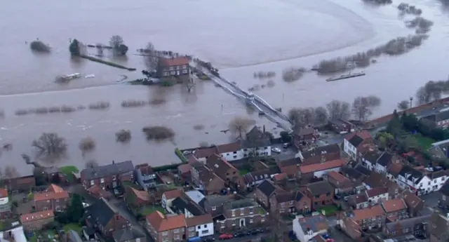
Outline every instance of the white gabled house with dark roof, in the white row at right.
<path id="1" fill-rule="evenodd" d="M 396 180 L 399 186 L 403 189 L 408 189 L 412 192 L 417 192 L 418 195 L 428 194 L 432 189 L 431 180 L 427 175 L 415 170 L 410 166 L 403 166 L 398 173 L 398 179 Z"/>

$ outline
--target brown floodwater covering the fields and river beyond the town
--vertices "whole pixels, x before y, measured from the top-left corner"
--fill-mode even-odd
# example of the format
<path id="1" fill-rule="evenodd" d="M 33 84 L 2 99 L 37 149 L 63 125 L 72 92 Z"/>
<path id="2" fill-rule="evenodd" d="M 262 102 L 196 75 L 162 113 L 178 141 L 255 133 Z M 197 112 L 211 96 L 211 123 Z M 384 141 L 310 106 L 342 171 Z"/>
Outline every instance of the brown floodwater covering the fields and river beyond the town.
<path id="1" fill-rule="evenodd" d="M 231 139 L 227 129 L 234 116 L 250 115 L 275 133 L 273 124 L 211 82 L 198 83 L 192 93 L 182 86 L 171 88 L 127 86 L 117 83 L 122 74 L 130 79 L 140 72 L 127 72 L 88 60 L 72 60 L 69 39 L 83 43 L 108 43 L 115 34 L 130 47 L 127 58 L 107 59 L 138 70 L 142 57 L 135 55 L 152 41 L 157 49 L 196 55 L 220 68 L 222 76 L 244 88 L 266 84 L 253 79 L 253 72 L 274 71 L 276 85 L 255 91 L 274 107 L 325 105 L 330 100 L 351 102 L 358 95 L 377 95 L 382 107 L 374 116 L 391 112 L 396 104 L 415 95 L 417 88 L 448 75 L 445 56 L 449 51 L 449 14 L 436 0 L 410 0 L 434 21 L 430 38 L 410 53 L 378 58 L 365 69 L 366 76 L 328 83 L 326 77 L 307 74 L 300 81 L 281 80 L 286 67 L 311 67 L 321 59 L 365 51 L 397 36 L 413 34 L 398 15 L 396 5 L 369 6 L 360 0 L 167 0 L 56 1 L 40 4 L 11 1 L 0 9 L 0 144 L 13 149 L 0 156 L 1 166 L 13 165 L 22 175 L 32 168 L 20 154 L 31 154 L 32 140 L 43 132 L 57 132 L 69 144 L 67 156 L 55 163 L 82 168 L 85 161 L 99 163 L 131 159 L 158 166 L 178 162 L 175 147 L 195 147 L 199 142 L 218 144 Z M 48 55 L 32 53 L 26 41 L 36 38 L 53 49 Z M 89 49 L 95 54 L 95 49 Z M 80 72 L 94 79 L 75 79 L 67 85 L 54 83 L 55 76 Z M 122 100 L 163 99 L 163 105 L 123 109 Z M 111 103 L 107 110 L 83 110 L 70 114 L 15 116 L 16 109 L 58 105 Z M 147 142 L 142 127 L 173 128 L 172 142 Z M 203 125 L 203 130 L 193 126 Z M 122 128 L 132 132 L 128 144 L 115 142 Z M 95 151 L 81 154 L 78 143 L 93 137 Z"/>

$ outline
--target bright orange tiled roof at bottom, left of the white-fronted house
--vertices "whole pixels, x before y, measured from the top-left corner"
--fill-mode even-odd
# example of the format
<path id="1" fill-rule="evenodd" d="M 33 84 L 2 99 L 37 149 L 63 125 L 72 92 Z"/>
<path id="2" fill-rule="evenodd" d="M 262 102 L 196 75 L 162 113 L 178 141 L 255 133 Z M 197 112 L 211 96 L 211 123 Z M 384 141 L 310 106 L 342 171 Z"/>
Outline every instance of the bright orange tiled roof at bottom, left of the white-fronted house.
<path id="1" fill-rule="evenodd" d="M 159 211 L 150 213 L 146 217 L 147 222 L 152 224 L 152 227 L 158 231 L 167 231 L 172 229 L 178 229 L 186 226 L 185 216 L 182 215 L 163 215 Z"/>

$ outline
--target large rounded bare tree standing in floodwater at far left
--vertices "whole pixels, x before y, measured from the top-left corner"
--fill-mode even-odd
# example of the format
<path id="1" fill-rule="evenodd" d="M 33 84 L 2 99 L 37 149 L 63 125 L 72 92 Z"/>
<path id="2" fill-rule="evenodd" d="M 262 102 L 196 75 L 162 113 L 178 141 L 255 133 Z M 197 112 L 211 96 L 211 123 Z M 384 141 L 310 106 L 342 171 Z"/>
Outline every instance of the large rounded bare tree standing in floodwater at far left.
<path id="1" fill-rule="evenodd" d="M 62 154 L 67 149 L 65 139 L 57 133 L 43 133 L 39 139 L 32 142 L 32 147 L 39 149 L 40 154 Z"/>

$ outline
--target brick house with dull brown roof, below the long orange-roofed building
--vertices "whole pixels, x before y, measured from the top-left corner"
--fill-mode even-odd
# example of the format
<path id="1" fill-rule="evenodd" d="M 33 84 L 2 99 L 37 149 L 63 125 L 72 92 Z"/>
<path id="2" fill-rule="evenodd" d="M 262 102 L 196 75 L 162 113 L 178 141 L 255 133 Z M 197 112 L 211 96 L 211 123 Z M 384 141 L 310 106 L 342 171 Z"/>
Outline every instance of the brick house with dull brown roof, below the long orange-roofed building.
<path id="1" fill-rule="evenodd" d="M 318 210 L 323 206 L 332 205 L 334 201 L 334 188 L 327 181 L 307 184 L 306 196 L 311 200 L 311 208 Z"/>

